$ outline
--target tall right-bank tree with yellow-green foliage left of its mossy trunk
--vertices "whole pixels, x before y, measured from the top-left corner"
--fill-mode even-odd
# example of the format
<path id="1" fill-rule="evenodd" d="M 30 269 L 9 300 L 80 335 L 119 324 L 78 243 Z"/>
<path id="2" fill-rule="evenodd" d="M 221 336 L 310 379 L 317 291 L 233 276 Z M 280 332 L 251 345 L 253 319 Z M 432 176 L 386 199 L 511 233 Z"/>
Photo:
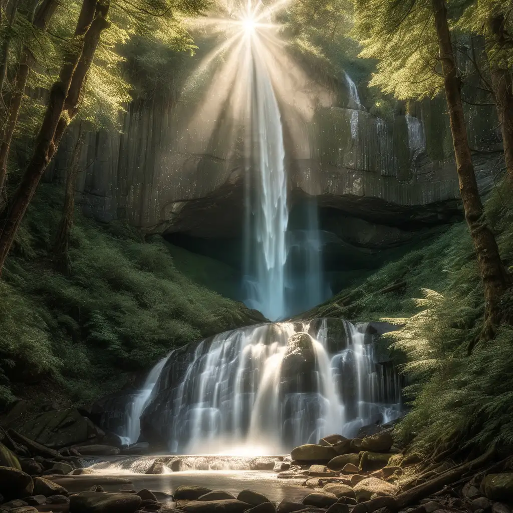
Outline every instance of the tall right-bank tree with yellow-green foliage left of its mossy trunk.
<path id="1" fill-rule="evenodd" d="M 465 219 L 484 287 L 484 339 L 510 319 L 501 298 L 511 279 L 501 261 L 479 195 L 461 98 L 461 75 L 453 51 L 445 0 L 356 0 L 354 33 L 363 56 L 379 58 L 373 83 L 406 98 L 444 91 Z"/>

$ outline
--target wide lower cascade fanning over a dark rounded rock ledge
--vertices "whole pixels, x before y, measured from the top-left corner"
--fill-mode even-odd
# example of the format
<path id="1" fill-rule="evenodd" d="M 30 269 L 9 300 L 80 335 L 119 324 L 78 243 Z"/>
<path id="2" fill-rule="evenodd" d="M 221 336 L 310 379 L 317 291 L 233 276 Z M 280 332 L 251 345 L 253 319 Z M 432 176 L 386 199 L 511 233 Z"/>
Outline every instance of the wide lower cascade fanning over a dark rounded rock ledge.
<path id="1" fill-rule="evenodd" d="M 387 423 L 400 415 L 400 380 L 372 333 L 372 323 L 324 318 L 235 329 L 175 349 L 134 399 L 130 442 L 134 415 L 143 439 L 180 454 L 280 454 Z M 133 407 L 142 403 L 144 411 Z"/>

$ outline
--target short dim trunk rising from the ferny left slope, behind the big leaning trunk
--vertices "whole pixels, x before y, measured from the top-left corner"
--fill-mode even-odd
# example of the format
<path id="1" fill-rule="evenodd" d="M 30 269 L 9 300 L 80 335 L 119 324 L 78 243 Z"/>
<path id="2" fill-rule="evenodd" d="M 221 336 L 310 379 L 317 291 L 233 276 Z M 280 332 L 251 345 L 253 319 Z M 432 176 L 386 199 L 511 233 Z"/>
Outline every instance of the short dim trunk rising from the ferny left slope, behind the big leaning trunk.
<path id="1" fill-rule="evenodd" d="M 78 164 L 80 162 L 80 155 L 82 152 L 82 147 L 84 146 L 84 141 L 85 131 L 81 122 L 80 127 L 78 128 L 78 139 L 76 141 L 75 147 L 73 148 L 71 162 L 66 176 L 66 195 L 64 198 L 63 215 L 57 231 L 55 244 L 53 246 L 53 253 L 55 255 L 57 268 L 66 274 L 71 272 L 71 262 L 68 254 L 68 243 L 69 234 L 73 226 L 73 214 L 75 211 L 75 185 L 76 177 L 78 175 Z"/>

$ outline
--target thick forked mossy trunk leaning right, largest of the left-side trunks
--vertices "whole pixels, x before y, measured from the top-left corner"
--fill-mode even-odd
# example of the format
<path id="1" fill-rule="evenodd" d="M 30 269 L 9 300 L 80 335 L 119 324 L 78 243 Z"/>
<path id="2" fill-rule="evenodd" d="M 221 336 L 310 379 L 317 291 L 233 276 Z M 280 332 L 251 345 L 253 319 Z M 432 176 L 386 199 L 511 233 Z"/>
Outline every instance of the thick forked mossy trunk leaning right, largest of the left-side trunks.
<path id="1" fill-rule="evenodd" d="M 0 272 L 41 177 L 55 154 L 64 131 L 78 111 L 100 36 L 109 27 L 106 19 L 108 10 L 109 2 L 105 0 L 83 2 L 75 33 L 83 34 L 83 37 L 77 38 L 76 51 L 66 56 L 59 80 L 50 90 L 43 124 L 37 135 L 31 160 L 12 201 L 4 209 L 0 231 Z M 74 80 L 75 71 L 77 75 Z"/>

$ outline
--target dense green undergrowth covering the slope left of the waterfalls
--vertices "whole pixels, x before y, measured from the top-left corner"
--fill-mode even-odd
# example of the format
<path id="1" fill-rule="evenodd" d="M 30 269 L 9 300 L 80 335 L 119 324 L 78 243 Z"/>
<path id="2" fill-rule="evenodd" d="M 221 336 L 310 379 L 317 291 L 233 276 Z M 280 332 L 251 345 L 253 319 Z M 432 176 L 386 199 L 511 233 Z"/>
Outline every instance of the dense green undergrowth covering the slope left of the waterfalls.
<path id="1" fill-rule="evenodd" d="M 179 272 L 162 238 L 145 242 L 122 223 L 103 226 L 77 212 L 72 273 L 57 272 L 48 248 L 61 208 L 60 188 L 43 185 L 2 274 L 0 403 L 26 383 L 92 401 L 172 347 L 252 322 L 244 305 Z"/>

